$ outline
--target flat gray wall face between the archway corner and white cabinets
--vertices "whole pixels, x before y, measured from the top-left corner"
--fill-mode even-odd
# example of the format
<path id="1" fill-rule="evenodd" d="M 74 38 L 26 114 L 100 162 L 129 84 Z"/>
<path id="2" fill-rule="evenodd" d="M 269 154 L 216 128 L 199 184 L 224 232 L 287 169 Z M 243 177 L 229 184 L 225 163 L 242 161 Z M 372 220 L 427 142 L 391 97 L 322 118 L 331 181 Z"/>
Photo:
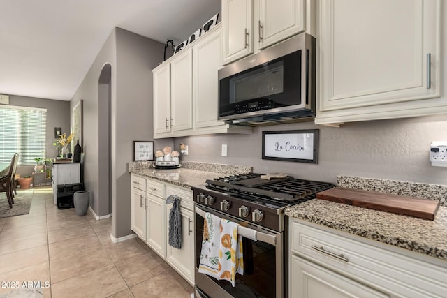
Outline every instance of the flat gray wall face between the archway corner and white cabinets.
<path id="1" fill-rule="evenodd" d="M 116 29 L 116 99 L 112 98 L 112 234 L 131 234 L 131 188 L 128 163 L 133 141 L 153 140 L 152 69 L 163 60 L 164 45 Z M 113 87 L 112 87 L 113 88 Z M 173 144 L 163 140 L 161 144 Z"/>

